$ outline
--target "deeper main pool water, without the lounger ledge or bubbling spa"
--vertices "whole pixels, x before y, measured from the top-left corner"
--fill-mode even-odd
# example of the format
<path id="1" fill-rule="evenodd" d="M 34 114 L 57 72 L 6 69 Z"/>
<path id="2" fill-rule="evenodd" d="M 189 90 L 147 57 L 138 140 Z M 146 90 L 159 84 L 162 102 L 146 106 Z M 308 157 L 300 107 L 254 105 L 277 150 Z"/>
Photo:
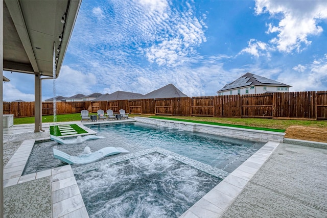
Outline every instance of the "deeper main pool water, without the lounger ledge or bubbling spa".
<path id="1" fill-rule="evenodd" d="M 90 129 L 109 137 L 113 147 L 123 147 L 131 152 L 160 147 L 229 173 L 264 144 L 142 123 L 90 126 Z"/>

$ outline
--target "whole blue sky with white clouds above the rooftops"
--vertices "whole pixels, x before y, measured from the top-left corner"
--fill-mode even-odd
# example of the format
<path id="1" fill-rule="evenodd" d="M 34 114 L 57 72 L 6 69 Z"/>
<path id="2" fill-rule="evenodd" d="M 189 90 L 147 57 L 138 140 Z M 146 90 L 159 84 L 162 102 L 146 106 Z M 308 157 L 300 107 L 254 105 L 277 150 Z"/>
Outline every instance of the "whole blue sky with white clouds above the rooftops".
<path id="1" fill-rule="evenodd" d="M 290 91 L 327 90 L 327 1 L 83 0 L 42 100 L 170 83 L 188 96 L 217 95 L 246 72 Z M 5 102 L 34 101 L 33 75 L 4 76 Z"/>

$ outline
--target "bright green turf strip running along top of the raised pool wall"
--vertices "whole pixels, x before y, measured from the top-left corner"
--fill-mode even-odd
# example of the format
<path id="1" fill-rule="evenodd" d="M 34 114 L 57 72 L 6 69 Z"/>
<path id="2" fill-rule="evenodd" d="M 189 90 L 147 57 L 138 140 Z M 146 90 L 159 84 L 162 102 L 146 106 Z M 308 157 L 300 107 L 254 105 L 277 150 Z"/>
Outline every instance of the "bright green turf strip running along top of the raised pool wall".
<path id="1" fill-rule="evenodd" d="M 191 120 L 191 119 L 178 119 L 178 118 L 159 117 L 159 116 L 150 116 L 150 118 L 168 119 L 168 120 L 190 122 L 190 123 L 197 123 L 197 124 L 209 124 L 209 125 L 224 126 L 224 127 L 236 127 L 236 128 L 252 129 L 252 130 L 264 130 L 264 131 L 271 131 L 271 132 L 285 132 L 285 130 L 281 130 L 281 129 L 270 129 L 270 128 L 263 128 L 263 127 L 249 127 L 249 126 L 242 126 L 242 125 L 235 125 L 235 124 L 222 124 L 222 123 L 216 123 L 216 122 L 205 122 L 205 121 L 198 121 L 198 120 Z"/>

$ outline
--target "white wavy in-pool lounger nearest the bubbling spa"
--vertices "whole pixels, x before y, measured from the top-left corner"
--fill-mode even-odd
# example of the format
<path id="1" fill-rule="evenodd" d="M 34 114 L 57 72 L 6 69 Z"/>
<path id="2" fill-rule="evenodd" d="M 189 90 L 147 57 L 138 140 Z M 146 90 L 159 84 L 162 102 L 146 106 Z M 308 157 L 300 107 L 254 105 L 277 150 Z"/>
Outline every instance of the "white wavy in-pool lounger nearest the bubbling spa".
<path id="1" fill-rule="evenodd" d="M 53 149 L 53 156 L 59 160 L 62 160 L 64 162 L 68 163 L 68 164 L 91 163 L 91 162 L 98 161 L 104 157 L 114 155 L 114 154 L 120 154 L 120 153 L 129 153 L 129 151 L 127 151 L 123 148 L 106 147 L 106 148 L 100 149 L 99 151 L 93 152 L 91 154 L 81 155 L 81 156 L 71 156 L 71 155 L 68 155 L 57 149 Z"/>

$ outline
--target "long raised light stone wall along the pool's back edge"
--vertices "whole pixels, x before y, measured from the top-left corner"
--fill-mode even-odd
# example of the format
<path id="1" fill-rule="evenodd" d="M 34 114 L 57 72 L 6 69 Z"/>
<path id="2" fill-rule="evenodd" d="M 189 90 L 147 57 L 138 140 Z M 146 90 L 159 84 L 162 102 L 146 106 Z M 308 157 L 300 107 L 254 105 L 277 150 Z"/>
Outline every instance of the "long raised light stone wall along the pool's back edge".
<path id="1" fill-rule="evenodd" d="M 136 122 L 156 125 L 160 127 L 168 127 L 183 131 L 201 132 L 213 135 L 226 136 L 231 138 L 244 139 L 249 141 L 274 141 L 283 142 L 285 133 L 270 132 L 264 130 L 252 130 L 235 127 L 215 126 L 208 124 L 195 124 L 190 122 L 181 122 L 175 120 L 163 120 L 148 117 L 134 117 Z"/>

